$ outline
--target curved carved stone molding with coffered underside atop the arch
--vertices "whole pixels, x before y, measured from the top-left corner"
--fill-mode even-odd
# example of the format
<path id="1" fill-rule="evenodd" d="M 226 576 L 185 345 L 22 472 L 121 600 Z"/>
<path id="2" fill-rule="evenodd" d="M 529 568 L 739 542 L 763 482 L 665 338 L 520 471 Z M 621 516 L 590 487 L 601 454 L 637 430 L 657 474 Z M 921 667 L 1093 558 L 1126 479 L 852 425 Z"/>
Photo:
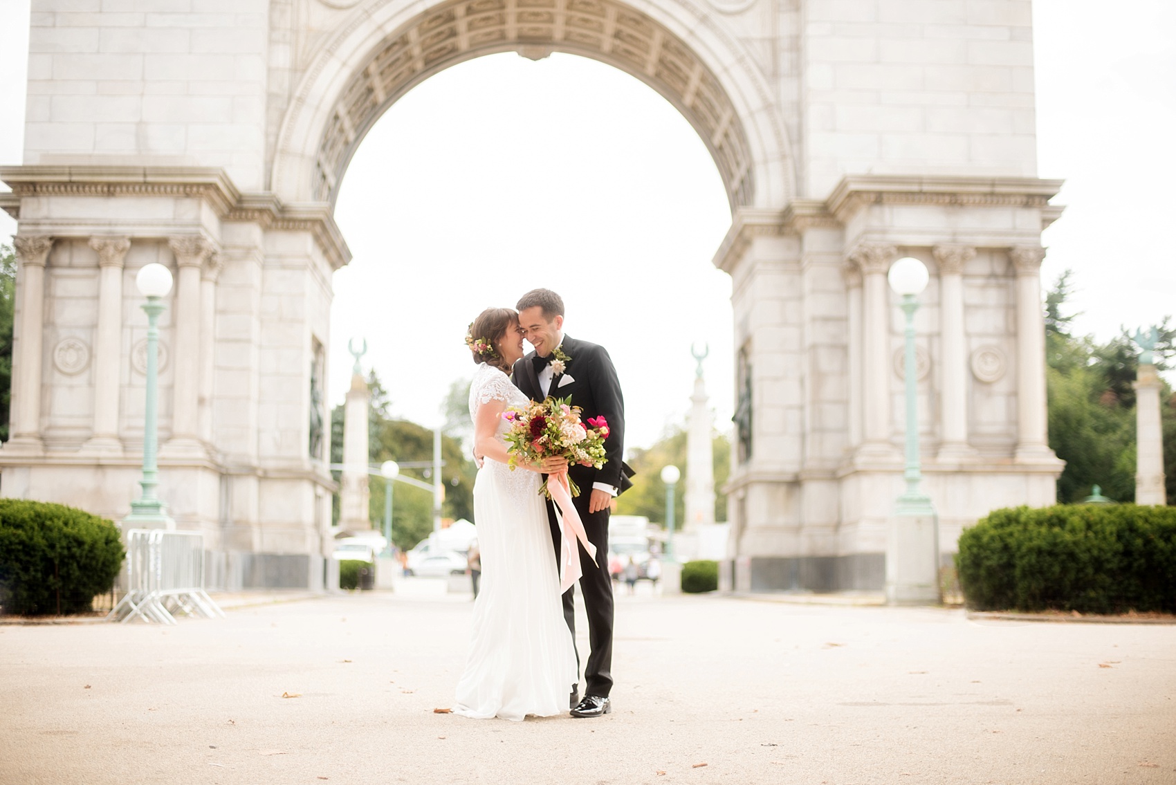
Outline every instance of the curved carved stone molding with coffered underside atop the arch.
<path id="1" fill-rule="evenodd" d="M 762 74 L 702 12 L 679 0 L 447 0 L 407 8 L 385 0 L 366 7 L 321 49 L 293 96 L 272 190 L 292 202 L 334 203 L 356 148 L 392 103 L 453 65 L 512 51 L 533 59 L 579 54 L 656 89 L 707 145 L 733 210 L 782 206 L 794 193 L 791 156 Z"/>

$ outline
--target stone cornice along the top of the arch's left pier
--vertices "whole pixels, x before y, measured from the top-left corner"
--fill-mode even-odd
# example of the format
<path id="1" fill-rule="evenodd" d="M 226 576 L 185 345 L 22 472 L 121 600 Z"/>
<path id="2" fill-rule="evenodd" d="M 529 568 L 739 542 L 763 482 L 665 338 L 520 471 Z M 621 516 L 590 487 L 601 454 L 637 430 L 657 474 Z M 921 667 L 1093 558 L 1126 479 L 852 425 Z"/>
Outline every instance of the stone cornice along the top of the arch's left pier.
<path id="1" fill-rule="evenodd" d="M 285 204 L 270 193 L 242 194 L 220 168 L 18 166 L 0 167 L 0 180 L 13 190 L 0 194 L 0 208 L 13 217 L 19 217 L 24 196 L 201 199 L 222 221 L 256 222 L 274 230 L 310 232 L 335 269 L 352 259 L 328 203 Z"/>

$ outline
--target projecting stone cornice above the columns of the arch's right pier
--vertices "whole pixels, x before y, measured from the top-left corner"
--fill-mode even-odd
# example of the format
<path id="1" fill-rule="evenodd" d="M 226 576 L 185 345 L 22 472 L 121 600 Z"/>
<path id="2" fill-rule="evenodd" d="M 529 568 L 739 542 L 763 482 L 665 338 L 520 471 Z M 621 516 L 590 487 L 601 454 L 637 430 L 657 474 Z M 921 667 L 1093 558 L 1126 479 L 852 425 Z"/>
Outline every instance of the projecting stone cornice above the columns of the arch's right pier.
<path id="1" fill-rule="evenodd" d="M 967 177 L 910 175 L 847 175 L 833 189 L 826 204 L 844 222 L 868 204 L 954 204 L 1050 208 L 1049 200 L 1062 180 L 1037 177 Z"/>

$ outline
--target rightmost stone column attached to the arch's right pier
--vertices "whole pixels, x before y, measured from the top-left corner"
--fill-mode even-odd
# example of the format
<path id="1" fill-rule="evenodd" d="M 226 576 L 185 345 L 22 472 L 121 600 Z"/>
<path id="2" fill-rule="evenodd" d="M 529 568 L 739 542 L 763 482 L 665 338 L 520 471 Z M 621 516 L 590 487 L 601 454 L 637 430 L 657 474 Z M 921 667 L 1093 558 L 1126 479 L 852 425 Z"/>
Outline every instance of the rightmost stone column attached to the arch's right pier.
<path id="1" fill-rule="evenodd" d="M 1056 461 L 1045 431 L 1045 318 L 1041 303 L 1041 261 L 1045 249 L 1009 249 L 1017 275 L 1017 449 L 1018 462 Z"/>

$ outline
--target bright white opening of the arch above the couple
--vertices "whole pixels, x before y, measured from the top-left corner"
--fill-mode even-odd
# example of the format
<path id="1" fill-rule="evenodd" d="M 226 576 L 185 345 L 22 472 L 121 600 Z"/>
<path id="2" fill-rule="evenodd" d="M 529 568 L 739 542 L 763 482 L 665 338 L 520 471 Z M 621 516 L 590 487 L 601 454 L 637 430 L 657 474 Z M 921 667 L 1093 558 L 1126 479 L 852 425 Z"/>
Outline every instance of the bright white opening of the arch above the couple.
<path id="1" fill-rule="evenodd" d="M 568 334 L 613 355 L 628 445 L 681 422 L 691 342 L 709 343 L 722 427 L 730 280 L 710 259 L 730 202 L 711 153 L 676 107 L 597 60 L 496 54 L 420 83 L 374 123 L 340 183 L 335 216 L 354 259 L 334 280 L 332 398 L 347 389 L 347 341 L 363 335 L 393 411 L 436 422 L 473 371 L 468 322 L 543 286 L 564 297 Z"/>

